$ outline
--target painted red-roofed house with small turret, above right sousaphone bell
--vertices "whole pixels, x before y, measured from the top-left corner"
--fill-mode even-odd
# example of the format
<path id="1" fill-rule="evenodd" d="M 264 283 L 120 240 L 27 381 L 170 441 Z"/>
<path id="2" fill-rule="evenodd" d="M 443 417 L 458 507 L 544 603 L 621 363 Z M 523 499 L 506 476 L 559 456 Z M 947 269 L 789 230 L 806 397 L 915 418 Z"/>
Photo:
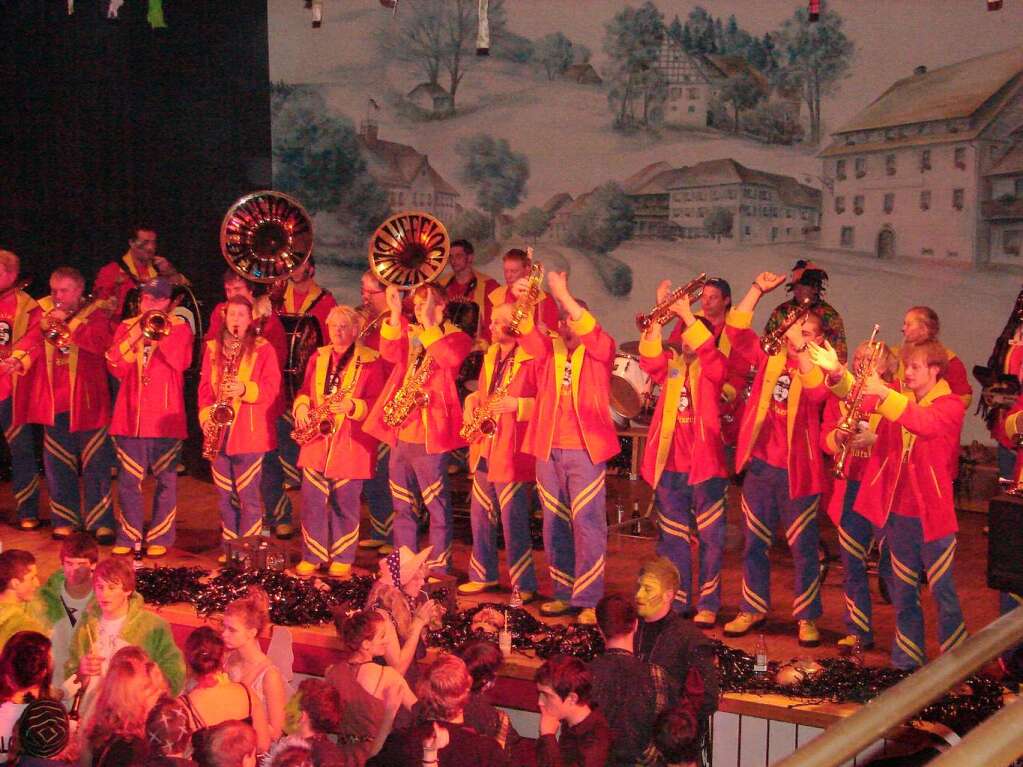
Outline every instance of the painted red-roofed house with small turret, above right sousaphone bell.
<path id="1" fill-rule="evenodd" d="M 369 175 L 388 193 L 392 212 L 425 211 L 450 221 L 458 212 L 458 190 L 407 144 L 380 138 L 375 121 L 364 120 L 357 138 Z"/>

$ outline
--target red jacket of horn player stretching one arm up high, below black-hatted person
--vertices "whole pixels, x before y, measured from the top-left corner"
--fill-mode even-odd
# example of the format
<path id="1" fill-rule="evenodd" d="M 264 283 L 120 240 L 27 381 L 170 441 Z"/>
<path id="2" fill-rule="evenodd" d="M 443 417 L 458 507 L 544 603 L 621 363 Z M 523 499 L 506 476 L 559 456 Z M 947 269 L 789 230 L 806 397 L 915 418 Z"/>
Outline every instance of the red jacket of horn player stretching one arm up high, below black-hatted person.
<path id="1" fill-rule="evenodd" d="M 787 352 L 768 357 L 758 343 L 757 334 L 750 329 L 753 315 L 732 309 L 728 312 L 725 332 L 733 348 L 751 359 L 757 366 L 750 399 L 743 412 L 739 427 L 739 447 L 736 451 L 736 470 L 742 471 L 753 456 L 753 448 L 760 437 L 760 430 L 767 416 L 774 385 L 786 369 Z M 836 395 L 848 394 L 849 376 L 833 390 Z M 800 498 L 820 492 L 820 408 L 828 396 L 825 376 L 820 368 L 799 373 L 789 389 L 786 443 L 789 447 L 789 495 Z"/>

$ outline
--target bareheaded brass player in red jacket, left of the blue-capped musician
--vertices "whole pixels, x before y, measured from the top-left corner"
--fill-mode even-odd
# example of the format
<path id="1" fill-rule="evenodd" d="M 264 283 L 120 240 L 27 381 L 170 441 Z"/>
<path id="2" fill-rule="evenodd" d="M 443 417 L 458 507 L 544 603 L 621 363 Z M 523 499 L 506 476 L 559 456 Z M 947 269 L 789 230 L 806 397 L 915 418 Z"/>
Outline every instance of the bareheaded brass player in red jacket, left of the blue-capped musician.
<path id="1" fill-rule="evenodd" d="M 77 269 L 59 267 L 50 275 L 50 295 L 39 301 L 43 318 L 21 360 L 33 392 L 27 420 L 43 424 L 46 435 L 43 465 L 53 537 L 87 530 L 110 544 L 114 450 L 106 434 L 110 394 L 103 355 L 112 331 L 104 303 L 85 300 L 84 287 Z"/>

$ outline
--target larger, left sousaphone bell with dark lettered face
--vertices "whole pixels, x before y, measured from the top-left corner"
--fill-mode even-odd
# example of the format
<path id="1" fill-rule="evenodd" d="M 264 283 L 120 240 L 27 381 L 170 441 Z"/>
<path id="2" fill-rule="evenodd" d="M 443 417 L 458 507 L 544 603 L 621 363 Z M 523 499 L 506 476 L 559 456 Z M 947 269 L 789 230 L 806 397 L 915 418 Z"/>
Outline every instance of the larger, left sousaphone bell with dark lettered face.
<path id="1" fill-rule="evenodd" d="M 220 225 L 220 250 L 247 280 L 279 282 L 312 256 L 312 220 L 295 197 L 253 192 L 228 209 Z"/>

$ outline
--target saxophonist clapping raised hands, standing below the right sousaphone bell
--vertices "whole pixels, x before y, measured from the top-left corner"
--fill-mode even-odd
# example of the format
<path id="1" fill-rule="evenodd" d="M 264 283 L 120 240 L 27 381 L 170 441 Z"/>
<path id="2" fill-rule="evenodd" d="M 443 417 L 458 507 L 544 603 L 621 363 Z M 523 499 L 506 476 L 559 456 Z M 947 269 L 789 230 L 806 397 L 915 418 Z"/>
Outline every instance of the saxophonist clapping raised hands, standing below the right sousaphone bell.
<path id="1" fill-rule="evenodd" d="M 422 504 L 430 511 L 433 552 L 427 563 L 432 573 L 441 575 L 447 573 L 451 559 L 449 453 L 465 444 L 458 436 L 461 405 L 455 376 L 473 340 L 444 320 L 447 298 L 435 284 L 415 289 L 412 309 L 416 321 L 412 324 L 402 317 L 398 288 L 388 285 L 386 297 L 391 315 L 381 326 L 381 355 L 394 368 L 367 416 L 366 431 L 391 445 L 388 469 L 394 497 L 395 548 L 418 549 L 412 495 L 412 488 L 418 485 Z M 421 387 L 405 386 L 420 377 L 425 377 Z M 387 412 L 394 412 L 396 398 L 406 396 L 415 401 L 408 416 L 397 426 L 389 425 Z"/>

